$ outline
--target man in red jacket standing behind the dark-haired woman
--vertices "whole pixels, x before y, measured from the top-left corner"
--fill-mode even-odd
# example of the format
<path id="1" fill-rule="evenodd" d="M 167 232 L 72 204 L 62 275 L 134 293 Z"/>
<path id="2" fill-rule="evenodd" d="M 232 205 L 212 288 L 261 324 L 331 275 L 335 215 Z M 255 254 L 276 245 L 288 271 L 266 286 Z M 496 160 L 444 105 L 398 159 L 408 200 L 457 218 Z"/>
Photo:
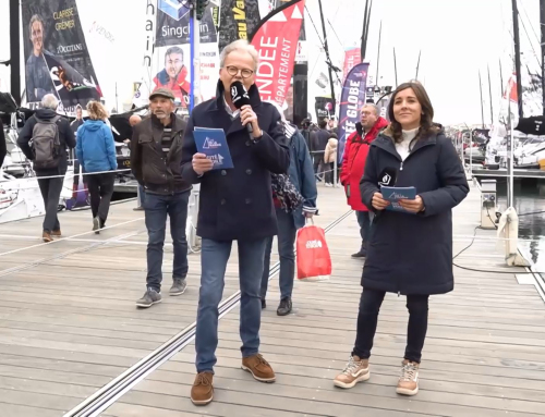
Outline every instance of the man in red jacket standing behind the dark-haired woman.
<path id="1" fill-rule="evenodd" d="M 365 160 L 370 151 L 370 144 L 388 125 L 388 122 L 380 118 L 379 114 L 380 111 L 376 105 L 366 103 L 362 108 L 361 128 L 348 137 L 342 156 L 340 180 L 344 186 L 348 204 L 355 211 L 358 223 L 360 224 L 360 235 L 362 236 L 362 246 L 358 253 L 352 255 L 352 258 L 365 258 L 367 255 L 366 247 L 371 233 L 372 219 L 370 209 L 362 203 L 360 181 L 365 171 Z"/>

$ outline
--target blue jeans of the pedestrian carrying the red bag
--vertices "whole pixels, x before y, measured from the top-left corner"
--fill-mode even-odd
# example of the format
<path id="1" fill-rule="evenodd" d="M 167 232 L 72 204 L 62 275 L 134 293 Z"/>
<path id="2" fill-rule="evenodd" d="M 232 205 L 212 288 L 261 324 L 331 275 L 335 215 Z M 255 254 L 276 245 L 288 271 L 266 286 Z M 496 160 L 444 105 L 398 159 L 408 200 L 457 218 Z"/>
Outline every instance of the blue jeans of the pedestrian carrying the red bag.
<path id="1" fill-rule="evenodd" d="M 293 280 L 295 278 L 295 237 L 298 230 L 293 214 L 282 209 L 276 210 L 278 221 L 278 255 L 280 256 L 280 299 L 291 298 Z M 270 254 L 272 252 L 272 236 L 267 242 L 265 249 L 265 261 L 262 277 L 262 299 L 267 295 L 269 283 Z"/>

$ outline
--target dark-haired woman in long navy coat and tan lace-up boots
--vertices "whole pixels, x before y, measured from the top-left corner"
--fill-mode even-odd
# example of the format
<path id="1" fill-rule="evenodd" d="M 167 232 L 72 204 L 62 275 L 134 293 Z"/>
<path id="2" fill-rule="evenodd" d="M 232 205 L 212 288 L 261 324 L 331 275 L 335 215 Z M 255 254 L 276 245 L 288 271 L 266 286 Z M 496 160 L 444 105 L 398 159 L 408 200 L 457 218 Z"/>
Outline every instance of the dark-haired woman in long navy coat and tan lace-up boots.
<path id="1" fill-rule="evenodd" d="M 453 289 L 451 209 L 469 193 L 461 161 L 433 123 L 434 109 L 420 83 L 400 85 L 388 109 L 391 124 L 371 145 L 360 188 L 375 212 L 363 269 L 354 349 L 335 379 L 352 388 L 370 378 L 368 358 L 385 294 L 407 295 L 407 348 L 397 392 L 419 392 L 419 367 L 427 330 L 428 298 Z M 415 187 L 416 197 L 391 210 L 380 185 Z"/>

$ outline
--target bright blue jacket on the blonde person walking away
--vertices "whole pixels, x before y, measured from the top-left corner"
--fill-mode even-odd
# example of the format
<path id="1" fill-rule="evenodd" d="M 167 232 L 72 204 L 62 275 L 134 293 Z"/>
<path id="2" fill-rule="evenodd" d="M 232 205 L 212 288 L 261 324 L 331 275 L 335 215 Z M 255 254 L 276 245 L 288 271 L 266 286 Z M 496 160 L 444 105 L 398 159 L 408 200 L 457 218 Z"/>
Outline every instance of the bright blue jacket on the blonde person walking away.
<path id="1" fill-rule="evenodd" d="M 118 169 L 113 134 L 101 120 L 87 120 L 77 128 L 75 155 L 85 172 Z"/>

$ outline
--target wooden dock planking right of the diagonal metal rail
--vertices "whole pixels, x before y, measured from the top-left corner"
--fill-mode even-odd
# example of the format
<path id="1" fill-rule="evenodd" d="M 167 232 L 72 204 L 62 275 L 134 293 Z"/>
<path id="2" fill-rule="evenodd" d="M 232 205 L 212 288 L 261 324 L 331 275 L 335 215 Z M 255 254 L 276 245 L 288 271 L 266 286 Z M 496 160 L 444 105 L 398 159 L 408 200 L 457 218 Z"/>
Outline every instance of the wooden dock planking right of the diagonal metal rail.
<path id="1" fill-rule="evenodd" d="M 322 189 L 320 189 L 322 192 Z M 326 191 L 330 192 L 330 191 Z M 340 200 L 341 197 L 339 197 Z M 479 192 L 455 210 L 455 234 L 470 236 L 479 224 Z M 493 236 L 494 232 L 479 231 Z M 457 242 L 461 241 L 461 242 Z M 455 254 L 471 238 L 455 237 Z M 295 283 L 294 311 L 276 316 L 278 281 L 269 285 L 262 318 L 261 349 L 277 371 L 263 384 L 240 369 L 238 308 L 220 321 L 215 401 L 195 407 L 189 398 L 195 376 L 194 345 L 125 394 L 108 413 L 119 416 L 475 416 L 545 415 L 545 305 L 531 285 L 519 285 L 495 241 L 475 241 L 455 268 L 455 292 L 431 298 L 421 392 L 395 392 L 405 344 L 404 298 L 389 294 L 382 308 L 372 356 L 372 378 L 352 390 L 332 379 L 355 338 L 362 261 L 358 224 L 349 217 L 328 234 L 334 262 L 329 282 Z M 496 255 L 496 256 L 494 256 Z M 499 255 L 499 256 L 497 256 Z M 497 272 L 509 272 L 499 274 Z"/>

